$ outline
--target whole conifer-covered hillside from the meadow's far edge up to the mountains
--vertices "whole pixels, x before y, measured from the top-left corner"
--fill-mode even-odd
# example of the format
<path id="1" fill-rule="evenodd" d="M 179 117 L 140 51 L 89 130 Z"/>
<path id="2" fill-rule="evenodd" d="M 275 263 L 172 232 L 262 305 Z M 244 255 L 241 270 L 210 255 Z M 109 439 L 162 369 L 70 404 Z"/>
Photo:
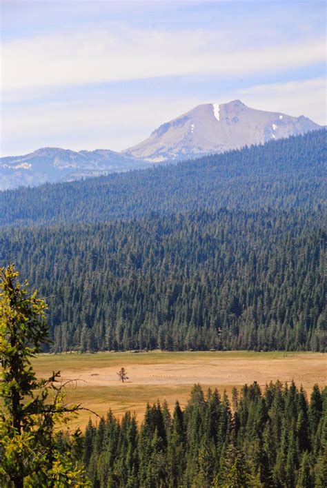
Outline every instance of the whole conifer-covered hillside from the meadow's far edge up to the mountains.
<path id="1" fill-rule="evenodd" d="M 326 131 L 0 193 L 54 351 L 326 350 Z"/>

